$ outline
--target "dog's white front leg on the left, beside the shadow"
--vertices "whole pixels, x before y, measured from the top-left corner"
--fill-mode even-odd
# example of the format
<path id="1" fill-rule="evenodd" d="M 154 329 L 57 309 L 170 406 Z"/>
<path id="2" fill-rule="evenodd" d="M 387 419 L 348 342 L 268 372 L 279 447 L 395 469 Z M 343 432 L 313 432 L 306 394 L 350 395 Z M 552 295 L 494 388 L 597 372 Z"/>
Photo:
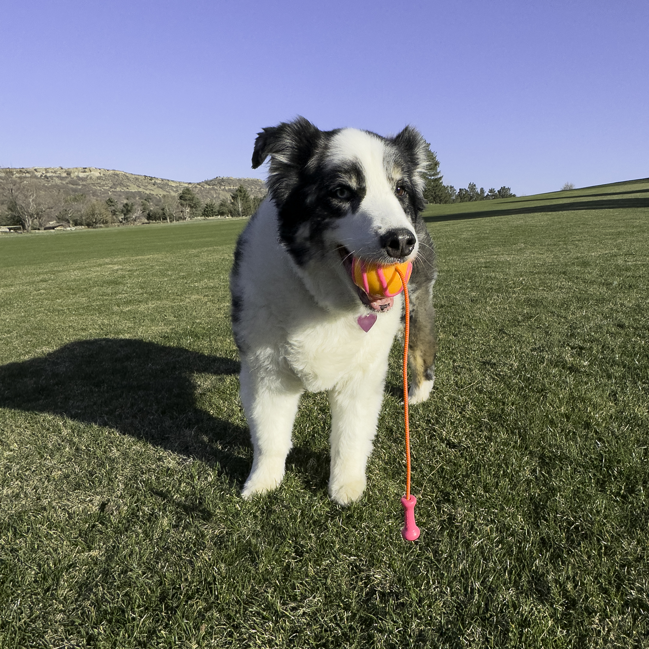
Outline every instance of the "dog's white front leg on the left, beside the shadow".
<path id="1" fill-rule="evenodd" d="M 245 361 L 241 362 L 240 381 L 241 402 L 254 448 L 252 469 L 241 489 L 241 496 L 249 499 L 276 489 L 284 479 L 302 387 L 256 376 Z"/>

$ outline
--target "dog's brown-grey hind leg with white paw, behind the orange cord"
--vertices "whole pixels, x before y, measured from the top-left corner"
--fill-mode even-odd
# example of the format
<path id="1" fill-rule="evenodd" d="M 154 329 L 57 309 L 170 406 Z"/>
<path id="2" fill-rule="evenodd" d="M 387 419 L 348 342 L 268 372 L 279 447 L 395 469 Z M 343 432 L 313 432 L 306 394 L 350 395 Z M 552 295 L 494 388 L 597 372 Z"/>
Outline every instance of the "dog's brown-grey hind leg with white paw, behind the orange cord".
<path id="1" fill-rule="evenodd" d="M 410 390 L 408 401 L 418 404 L 430 395 L 435 382 L 435 310 L 430 288 L 422 287 L 413 293 L 410 304 L 410 344 L 408 365 L 410 366 Z"/>

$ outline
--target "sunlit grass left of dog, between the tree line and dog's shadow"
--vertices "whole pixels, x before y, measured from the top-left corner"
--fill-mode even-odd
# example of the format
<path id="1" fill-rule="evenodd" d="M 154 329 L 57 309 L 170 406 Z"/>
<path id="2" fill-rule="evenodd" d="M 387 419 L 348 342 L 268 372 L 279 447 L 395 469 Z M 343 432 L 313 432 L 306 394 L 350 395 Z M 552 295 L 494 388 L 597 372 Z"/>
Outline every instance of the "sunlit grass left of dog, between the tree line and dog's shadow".
<path id="1" fill-rule="evenodd" d="M 244 225 L 232 219 L 6 236 L 0 358 L 27 358 L 78 338 L 165 336 L 179 320 L 188 323 L 186 338 L 201 323 L 228 329 L 228 273 Z"/>

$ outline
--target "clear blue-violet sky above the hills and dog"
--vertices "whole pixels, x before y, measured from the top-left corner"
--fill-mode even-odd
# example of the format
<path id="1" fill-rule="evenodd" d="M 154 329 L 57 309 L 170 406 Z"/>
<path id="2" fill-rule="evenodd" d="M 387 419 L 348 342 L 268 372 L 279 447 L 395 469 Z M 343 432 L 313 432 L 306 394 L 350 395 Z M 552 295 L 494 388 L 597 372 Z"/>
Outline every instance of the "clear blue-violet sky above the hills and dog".
<path id="1" fill-rule="evenodd" d="M 262 127 L 418 127 L 456 188 L 649 177 L 647 0 L 0 0 L 0 166 L 199 181 Z"/>

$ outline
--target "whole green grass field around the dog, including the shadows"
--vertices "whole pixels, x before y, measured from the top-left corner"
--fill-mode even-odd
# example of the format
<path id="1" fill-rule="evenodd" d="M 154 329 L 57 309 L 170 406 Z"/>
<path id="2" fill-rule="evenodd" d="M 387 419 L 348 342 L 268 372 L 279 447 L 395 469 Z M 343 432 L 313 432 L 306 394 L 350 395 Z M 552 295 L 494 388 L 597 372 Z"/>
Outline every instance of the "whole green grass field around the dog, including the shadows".
<path id="1" fill-rule="evenodd" d="M 426 219 L 415 543 L 398 345 L 360 503 L 323 394 L 239 498 L 243 221 L 0 238 L 0 647 L 649 646 L 649 180 Z"/>

